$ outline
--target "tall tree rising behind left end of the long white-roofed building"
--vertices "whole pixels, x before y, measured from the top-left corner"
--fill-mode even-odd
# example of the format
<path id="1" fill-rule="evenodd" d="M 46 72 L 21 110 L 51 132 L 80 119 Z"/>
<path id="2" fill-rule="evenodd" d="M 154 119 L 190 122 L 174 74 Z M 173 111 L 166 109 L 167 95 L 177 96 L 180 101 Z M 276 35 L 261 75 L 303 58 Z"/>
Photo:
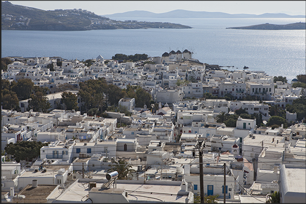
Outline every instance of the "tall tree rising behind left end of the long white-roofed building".
<path id="1" fill-rule="evenodd" d="M 17 84 L 11 83 L 12 91 L 17 94 L 19 100 L 30 98 L 34 89 L 34 83 L 29 78 L 19 79 Z"/>

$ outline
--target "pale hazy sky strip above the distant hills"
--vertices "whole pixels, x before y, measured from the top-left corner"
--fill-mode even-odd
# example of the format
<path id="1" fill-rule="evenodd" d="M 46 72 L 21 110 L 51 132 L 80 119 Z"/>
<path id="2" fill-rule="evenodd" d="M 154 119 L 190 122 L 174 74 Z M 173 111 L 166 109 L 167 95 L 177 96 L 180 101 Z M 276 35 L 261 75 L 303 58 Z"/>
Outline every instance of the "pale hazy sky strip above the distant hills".
<path id="1" fill-rule="evenodd" d="M 42 10 L 83 9 L 97 15 L 127 11 L 165 13 L 177 9 L 228 14 L 285 13 L 305 15 L 306 1 L 9 1 Z"/>

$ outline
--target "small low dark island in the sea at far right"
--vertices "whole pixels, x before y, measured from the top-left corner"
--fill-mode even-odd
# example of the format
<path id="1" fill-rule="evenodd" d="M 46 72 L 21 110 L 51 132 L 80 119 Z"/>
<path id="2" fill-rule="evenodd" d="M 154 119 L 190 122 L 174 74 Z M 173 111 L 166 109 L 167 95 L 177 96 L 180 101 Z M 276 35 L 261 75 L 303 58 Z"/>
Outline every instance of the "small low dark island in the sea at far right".
<path id="1" fill-rule="evenodd" d="M 305 30 L 306 23 L 290 23 L 286 25 L 276 25 L 276 24 L 259 24 L 259 25 L 250 25 L 243 27 L 229 27 L 226 29 L 247 29 L 247 30 Z"/>

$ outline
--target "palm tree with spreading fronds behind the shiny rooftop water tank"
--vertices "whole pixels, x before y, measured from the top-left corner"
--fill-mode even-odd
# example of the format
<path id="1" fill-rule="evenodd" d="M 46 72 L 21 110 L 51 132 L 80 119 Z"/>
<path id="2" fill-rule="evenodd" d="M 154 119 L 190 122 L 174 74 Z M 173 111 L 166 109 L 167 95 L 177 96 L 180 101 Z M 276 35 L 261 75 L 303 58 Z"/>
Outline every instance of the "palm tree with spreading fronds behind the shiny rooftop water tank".
<path id="1" fill-rule="evenodd" d="M 115 165 L 113 166 L 113 164 Z M 132 169 L 132 166 L 124 159 L 119 159 L 118 161 L 112 162 L 112 168 L 109 169 L 107 172 L 109 173 L 113 171 L 118 172 L 119 180 L 127 180 L 128 175 L 130 175 L 133 172 L 136 172 L 135 170 Z"/>

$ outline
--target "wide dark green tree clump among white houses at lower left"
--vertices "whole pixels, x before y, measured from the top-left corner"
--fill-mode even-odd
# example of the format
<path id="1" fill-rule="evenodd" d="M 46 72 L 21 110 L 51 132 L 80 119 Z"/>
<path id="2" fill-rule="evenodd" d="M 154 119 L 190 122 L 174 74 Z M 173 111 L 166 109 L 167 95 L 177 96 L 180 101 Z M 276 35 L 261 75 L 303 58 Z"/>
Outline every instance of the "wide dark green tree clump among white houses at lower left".
<path id="1" fill-rule="evenodd" d="M 13 155 L 13 158 L 19 162 L 20 160 L 32 161 L 33 158 L 40 156 L 40 149 L 48 143 L 41 141 L 17 141 L 16 143 L 6 144 L 5 151 Z"/>

